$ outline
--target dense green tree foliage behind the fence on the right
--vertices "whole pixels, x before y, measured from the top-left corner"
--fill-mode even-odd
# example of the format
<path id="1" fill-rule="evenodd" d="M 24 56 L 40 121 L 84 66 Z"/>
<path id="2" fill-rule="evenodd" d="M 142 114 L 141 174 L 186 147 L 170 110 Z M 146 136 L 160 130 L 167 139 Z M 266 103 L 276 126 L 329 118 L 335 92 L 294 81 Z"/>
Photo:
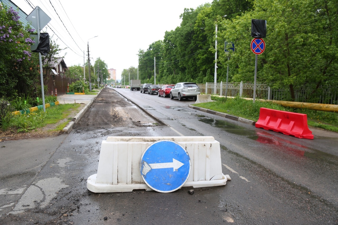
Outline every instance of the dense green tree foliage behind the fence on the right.
<path id="1" fill-rule="evenodd" d="M 214 0 L 186 8 L 182 23 L 164 39 L 139 50 L 142 82 L 213 82 L 215 24 L 218 24 L 217 81 L 253 81 L 255 54 L 251 19 L 267 21 L 266 48 L 258 56 L 258 82 L 288 89 L 294 100 L 305 83 L 313 96 L 322 84 L 338 84 L 338 4 L 334 0 Z M 225 16 L 226 15 L 226 16 Z M 224 41 L 235 44 L 230 60 Z M 311 97 L 311 96 L 310 96 Z"/>

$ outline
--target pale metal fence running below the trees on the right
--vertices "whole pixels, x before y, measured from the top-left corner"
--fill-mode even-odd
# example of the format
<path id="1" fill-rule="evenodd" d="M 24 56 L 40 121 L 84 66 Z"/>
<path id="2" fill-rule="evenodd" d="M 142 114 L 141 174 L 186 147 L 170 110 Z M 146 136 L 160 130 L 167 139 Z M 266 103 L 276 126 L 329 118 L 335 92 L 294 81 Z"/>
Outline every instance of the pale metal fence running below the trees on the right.
<path id="1" fill-rule="evenodd" d="M 253 98 L 254 83 L 251 82 L 228 82 L 227 91 L 226 83 L 201 83 L 197 84 L 201 93 L 226 96 Z M 315 91 L 314 91 L 315 90 Z M 312 102 L 323 104 L 338 104 L 338 87 L 333 85 L 321 85 L 318 88 L 315 84 L 306 83 L 301 87 L 294 89 L 295 101 L 297 102 Z M 271 90 L 268 84 L 256 84 L 256 98 L 268 100 L 292 100 L 289 89 Z"/>

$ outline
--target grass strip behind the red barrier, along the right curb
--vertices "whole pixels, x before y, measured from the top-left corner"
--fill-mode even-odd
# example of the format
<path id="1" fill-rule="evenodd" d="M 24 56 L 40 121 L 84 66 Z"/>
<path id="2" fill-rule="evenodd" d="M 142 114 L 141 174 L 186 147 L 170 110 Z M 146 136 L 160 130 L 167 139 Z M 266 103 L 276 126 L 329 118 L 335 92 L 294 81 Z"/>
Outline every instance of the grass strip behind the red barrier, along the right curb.
<path id="1" fill-rule="evenodd" d="M 252 100 L 250 101 L 239 97 L 227 98 L 226 101 L 225 98 L 223 97 L 212 96 L 211 98 L 212 100 L 214 100 L 214 102 L 198 103 L 194 105 L 254 121 L 258 120 L 259 110 L 261 107 L 289 111 L 294 113 L 303 113 L 307 114 L 308 126 L 338 132 L 337 113 L 317 111 L 305 108 L 299 109 L 299 108 L 284 107 L 272 102 L 259 100 L 256 100 L 254 104 Z"/>

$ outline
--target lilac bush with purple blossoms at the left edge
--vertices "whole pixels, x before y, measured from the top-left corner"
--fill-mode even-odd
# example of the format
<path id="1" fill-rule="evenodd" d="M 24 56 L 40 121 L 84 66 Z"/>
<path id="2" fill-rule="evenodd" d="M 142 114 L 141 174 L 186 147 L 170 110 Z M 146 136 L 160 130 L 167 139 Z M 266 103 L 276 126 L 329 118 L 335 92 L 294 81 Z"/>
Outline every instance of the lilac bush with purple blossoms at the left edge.
<path id="1" fill-rule="evenodd" d="M 0 7 L 0 97 L 32 92 L 37 80 L 34 63 L 39 59 L 30 52 L 34 41 L 29 38 L 34 29 L 24 27 L 19 18 L 12 7 Z"/>

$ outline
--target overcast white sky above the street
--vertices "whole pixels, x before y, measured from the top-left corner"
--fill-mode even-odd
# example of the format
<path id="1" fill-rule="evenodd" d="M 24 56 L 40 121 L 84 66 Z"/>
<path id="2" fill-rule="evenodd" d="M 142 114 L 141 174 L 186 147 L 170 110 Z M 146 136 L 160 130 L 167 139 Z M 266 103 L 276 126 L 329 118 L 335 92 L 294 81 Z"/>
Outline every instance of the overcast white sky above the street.
<path id="1" fill-rule="evenodd" d="M 11 1 L 26 14 L 30 14 L 33 10 L 25 0 Z M 67 52 L 65 57 L 67 66 L 78 64 L 82 66 L 83 50 L 86 51 L 87 58 L 88 39 L 98 35 L 89 40 L 90 55 L 94 60 L 97 57 L 104 60 L 108 69 L 116 69 L 117 79 L 121 79 L 123 69 L 130 66 L 138 67 L 139 49 L 146 50 L 151 43 L 163 40 L 165 31 L 174 30 L 180 25 L 179 16 L 184 8 L 196 9 L 201 4 L 212 2 L 212 0 L 50 1 L 79 47 L 68 34 L 49 0 L 28 0 L 33 7 L 39 6 L 52 19 L 48 25 L 78 54 L 70 49 L 64 51 Z M 47 32 L 49 35 L 53 34 L 48 27 Z M 54 35 L 54 40 L 56 38 Z M 62 41 L 58 40 L 57 43 L 61 48 L 65 48 L 66 45 Z"/>

